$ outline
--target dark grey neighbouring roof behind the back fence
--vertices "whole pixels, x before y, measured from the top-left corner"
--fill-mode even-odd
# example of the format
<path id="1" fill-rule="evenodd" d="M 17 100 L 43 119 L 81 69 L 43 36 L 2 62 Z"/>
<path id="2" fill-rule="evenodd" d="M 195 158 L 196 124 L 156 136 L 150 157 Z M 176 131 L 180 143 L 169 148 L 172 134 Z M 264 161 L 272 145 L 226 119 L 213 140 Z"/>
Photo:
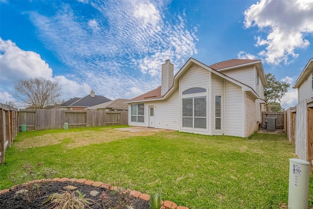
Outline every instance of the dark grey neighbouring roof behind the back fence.
<path id="1" fill-rule="evenodd" d="M 111 101 L 111 99 L 101 95 L 90 96 L 90 94 L 88 94 L 83 98 L 72 98 L 61 104 L 59 107 L 91 107 L 108 101 Z"/>

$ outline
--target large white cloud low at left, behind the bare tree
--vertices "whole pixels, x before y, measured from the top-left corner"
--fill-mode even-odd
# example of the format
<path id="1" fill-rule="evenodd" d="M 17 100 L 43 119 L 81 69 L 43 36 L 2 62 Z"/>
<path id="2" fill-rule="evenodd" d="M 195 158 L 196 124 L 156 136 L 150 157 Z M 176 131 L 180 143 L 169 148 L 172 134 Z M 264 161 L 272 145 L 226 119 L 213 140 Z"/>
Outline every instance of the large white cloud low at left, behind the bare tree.
<path id="1" fill-rule="evenodd" d="M 11 40 L 3 41 L 0 38 L 0 102 L 14 101 L 13 96 L 8 93 L 12 90 L 12 82 L 20 79 L 30 79 L 34 77 L 45 77 L 55 80 L 63 87 L 64 99 L 70 97 L 82 97 L 89 94 L 91 88 L 86 83 L 72 80 L 65 76 L 52 75 L 52 69 L 41 59 L 40 55 L 34 51 L 24 51 Z M 14 101 L 16 102 L 16 101 Z"/>

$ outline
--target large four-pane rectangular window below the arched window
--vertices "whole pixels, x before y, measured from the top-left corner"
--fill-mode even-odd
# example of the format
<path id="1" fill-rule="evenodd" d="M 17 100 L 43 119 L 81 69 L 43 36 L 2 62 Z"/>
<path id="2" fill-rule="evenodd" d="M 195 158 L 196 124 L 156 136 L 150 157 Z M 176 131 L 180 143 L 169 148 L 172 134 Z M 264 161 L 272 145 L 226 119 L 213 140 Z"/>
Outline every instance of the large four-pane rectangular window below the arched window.
<path id="1" fill-rule="evenodd" d="M 182 127 L 206 129 L 206 96 L 182 99 Z"/>

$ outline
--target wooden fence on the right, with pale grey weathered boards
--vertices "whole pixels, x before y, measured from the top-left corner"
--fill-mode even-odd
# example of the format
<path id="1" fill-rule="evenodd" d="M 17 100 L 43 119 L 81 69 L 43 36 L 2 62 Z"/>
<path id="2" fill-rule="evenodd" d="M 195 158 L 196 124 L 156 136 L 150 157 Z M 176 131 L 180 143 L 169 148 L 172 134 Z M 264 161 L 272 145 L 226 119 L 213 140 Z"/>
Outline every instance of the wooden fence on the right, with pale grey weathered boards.
<path id="1" fill-rule="evenodd" d="M 295 154 L 299 159 L 311 163 L 313 172 L 313 107 L 304 99 L 295 108 L 285 111 L 285 133 L 291 143 L 295 144 Z"/>

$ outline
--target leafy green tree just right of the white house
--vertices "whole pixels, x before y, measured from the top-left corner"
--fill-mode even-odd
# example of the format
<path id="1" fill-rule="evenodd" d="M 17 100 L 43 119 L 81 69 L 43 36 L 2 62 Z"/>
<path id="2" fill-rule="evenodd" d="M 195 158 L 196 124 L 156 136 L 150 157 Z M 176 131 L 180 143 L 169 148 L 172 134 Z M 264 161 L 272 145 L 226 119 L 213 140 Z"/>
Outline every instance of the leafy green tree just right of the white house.
<path id="1" fill-rule="evenodd" d="M 290 84 L 286 81 L 278 81 L 275 75 L 265 73 L 267 86 L 264 87 L 264 99 L 266 102 L 266 109 L 269 111 L 269 103 L 280 102 L 280 99 L 287 93 Z"/>

